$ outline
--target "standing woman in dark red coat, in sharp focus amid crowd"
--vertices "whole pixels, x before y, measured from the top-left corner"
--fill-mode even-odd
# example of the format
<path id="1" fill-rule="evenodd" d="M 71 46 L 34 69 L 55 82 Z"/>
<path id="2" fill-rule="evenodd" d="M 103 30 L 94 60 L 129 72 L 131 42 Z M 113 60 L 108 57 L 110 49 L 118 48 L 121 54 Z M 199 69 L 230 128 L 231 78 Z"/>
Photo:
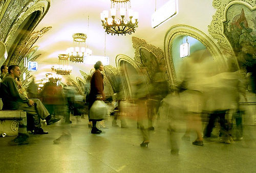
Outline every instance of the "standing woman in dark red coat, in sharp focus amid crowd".
<path id="1" fill-rule="evenodd" d="M 93 105 L 93 103 L 97 100 L 104 100 L 104 86 L 103 86 L 103 75 L 100 71 L 103 71 L 104 67 L 101 61 L 96 62 L 94 65 L 95 71 L 93 72 L 93 76 L 91 79 L 91 91 L 89 95 L 89 112 L 90 109 Z M 90 116 L 89 114 L 89 121 L 93 122 L 93 127 L 92 127 L 92 134 L 99 134 L 102 131 L 96 128 L 96 123 L 97 121 L 101 121 L 102 119 L 94 119 L 93 117 Z"/>

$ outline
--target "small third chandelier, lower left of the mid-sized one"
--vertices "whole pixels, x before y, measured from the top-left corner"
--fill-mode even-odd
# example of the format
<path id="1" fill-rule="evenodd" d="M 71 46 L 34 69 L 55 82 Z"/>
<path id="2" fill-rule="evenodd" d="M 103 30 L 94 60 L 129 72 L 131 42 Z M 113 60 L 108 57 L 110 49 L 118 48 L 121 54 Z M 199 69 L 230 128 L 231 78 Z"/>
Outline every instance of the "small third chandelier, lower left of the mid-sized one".
<path id="1" fill-rule="evenodd" d="M 59 63 L 58 65 L 54 65 L 52 70 L 57 73 L 57 75 L 70 75 L 72 71 L 72 66 L 69 66 L 69 55 L 67 54 L 59 54 Z"/>

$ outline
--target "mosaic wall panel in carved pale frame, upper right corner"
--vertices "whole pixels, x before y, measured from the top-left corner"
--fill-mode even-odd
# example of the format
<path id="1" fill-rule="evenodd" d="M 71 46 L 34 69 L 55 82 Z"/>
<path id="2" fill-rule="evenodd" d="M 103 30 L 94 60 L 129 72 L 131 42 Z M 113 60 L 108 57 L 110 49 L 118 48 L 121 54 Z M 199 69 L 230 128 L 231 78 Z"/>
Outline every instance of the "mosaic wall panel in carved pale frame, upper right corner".
<path id="1" fill-rule="evenodd" d="M 212 6 L 216 8 L 217 11 L 215 15 L 212 16 L 212 21 L 208 26 L 209 34 L 218 40 L 218 44 L 224 53 L 237 55 L 237 52 L 241 52 L 243 48 L 243 45 L 241 45 L 241 41 L 243 40 L 240 39 L 244 37 L 244 39 L 255 37 L 256 1 L 214 0 Z M 236 41 L 236 39 L 238 40 Z M 251 39 L 251 41 L 253 41 L 253 39 Z M 252 49 L 247 46 L 244 46 L 244 49 L 250 52 L 252 51 Z"/>

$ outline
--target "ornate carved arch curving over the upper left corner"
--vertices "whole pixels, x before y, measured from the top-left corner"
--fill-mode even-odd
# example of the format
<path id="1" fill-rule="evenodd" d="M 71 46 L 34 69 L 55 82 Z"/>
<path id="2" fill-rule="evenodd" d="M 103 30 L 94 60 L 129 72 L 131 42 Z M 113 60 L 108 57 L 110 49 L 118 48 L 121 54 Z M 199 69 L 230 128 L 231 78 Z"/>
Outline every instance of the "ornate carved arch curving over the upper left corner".
<path id="1" fill-rule="evenodd" d="M 6 10 L 4 7 L 6 7 Z M 25 47 L 30 33 L 35 29 L 40 20 L 46 15 L 50 8 L 50 0 L 11 0 L 7 1 L 2 8 L 5 10 L 0 22 L 0 39 L 10 50 L 22 50 Z M 2 15 L 2 13 L 1 13 Z M 32 21 L 31 21 L 32 20 Z M 26 28 L 26 32 L 19 33 L 20 27 Z M 14 38 L 19 35 L 18 42 Z M 15 44 L 15 46 L 13 46 Z M 29 47 L 30 48 L 30 47 Z M 17 53 L 8 57 L 5 64 L 19 63 Z M 20 60 L 20 59 L 19 59 Z"/>

